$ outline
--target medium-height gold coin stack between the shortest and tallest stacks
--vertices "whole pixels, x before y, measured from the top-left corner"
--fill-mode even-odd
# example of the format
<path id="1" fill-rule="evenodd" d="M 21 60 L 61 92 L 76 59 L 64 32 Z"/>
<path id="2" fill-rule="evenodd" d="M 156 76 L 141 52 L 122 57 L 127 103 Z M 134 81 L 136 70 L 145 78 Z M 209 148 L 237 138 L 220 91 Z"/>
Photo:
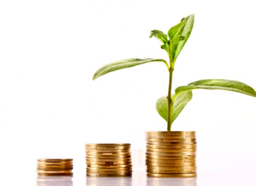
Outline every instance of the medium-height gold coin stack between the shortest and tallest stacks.
<path id="1" fill-rule="evenodd" d="M 128 143 L 86 144 L 86 164 L 87 176 L 131 176 L 131 145 Z"/>

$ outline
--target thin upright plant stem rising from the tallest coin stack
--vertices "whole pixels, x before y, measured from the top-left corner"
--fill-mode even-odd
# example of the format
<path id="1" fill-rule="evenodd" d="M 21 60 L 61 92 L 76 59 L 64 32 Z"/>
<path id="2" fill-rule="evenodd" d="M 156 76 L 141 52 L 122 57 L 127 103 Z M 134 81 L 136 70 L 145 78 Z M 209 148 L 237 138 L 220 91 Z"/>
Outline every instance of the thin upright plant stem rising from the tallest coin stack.
<path id="1" fill-rule="evenodd" d="M 172 122 L 171 122 L 171 114 L 172 114 L 172 74 L 174 70 L 173 61 L 171 60 L 171 56 L 169 56 L 170 60 L 170 68 L 169 68 L 169 87 L 168 87 L 168 95 L 167 95 L 167 131 L 171 131 Z"/>

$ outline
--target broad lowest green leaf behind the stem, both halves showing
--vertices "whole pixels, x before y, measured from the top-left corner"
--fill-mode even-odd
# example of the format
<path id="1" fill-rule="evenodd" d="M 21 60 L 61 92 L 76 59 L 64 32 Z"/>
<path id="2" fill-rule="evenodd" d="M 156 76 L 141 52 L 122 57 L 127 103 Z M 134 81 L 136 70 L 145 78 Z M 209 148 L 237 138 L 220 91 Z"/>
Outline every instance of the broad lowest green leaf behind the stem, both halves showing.
<path id="1" fill-rule="evenodd" d="M 174 97 L 172 95 L 172 97 Z M 178 117 L 178 115 L 182 112 L 183 108 L 187 105 L 187 103 L 192 99 L 192 91 L 185 91 L 179 93 L 179 95 L 175 96 L 173 99 L 172 105 L 172 113 L 171 113 L 171 123 Z M 163 96 L 156 101 L 156 110 L 159 115 L 167 121 L 168 114 L 168 106 L 167 106 L 167 96 Z"/>

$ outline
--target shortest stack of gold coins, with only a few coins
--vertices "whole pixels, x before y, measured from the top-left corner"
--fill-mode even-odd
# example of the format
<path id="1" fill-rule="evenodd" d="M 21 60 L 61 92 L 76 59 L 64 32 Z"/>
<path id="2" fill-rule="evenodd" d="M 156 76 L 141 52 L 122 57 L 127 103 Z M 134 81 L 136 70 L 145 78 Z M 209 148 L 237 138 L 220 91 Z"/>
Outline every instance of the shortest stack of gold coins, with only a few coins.
<path id="1" fill-rule="evenodd" d="M 40 158 L 37 159 L 39 176 L 72 176 L 73 159 Z"/>

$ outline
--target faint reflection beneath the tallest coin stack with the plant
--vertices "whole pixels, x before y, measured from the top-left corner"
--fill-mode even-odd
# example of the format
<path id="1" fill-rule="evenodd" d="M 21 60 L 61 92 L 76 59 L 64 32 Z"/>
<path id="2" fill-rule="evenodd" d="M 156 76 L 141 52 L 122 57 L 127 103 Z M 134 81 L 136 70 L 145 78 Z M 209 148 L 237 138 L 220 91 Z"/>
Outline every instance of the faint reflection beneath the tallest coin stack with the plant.
<path id="1" fill-rule="evenodd" d="M 147 186 L 197 186 L 197 177 L 154 178 L 147 177 Z"/>

